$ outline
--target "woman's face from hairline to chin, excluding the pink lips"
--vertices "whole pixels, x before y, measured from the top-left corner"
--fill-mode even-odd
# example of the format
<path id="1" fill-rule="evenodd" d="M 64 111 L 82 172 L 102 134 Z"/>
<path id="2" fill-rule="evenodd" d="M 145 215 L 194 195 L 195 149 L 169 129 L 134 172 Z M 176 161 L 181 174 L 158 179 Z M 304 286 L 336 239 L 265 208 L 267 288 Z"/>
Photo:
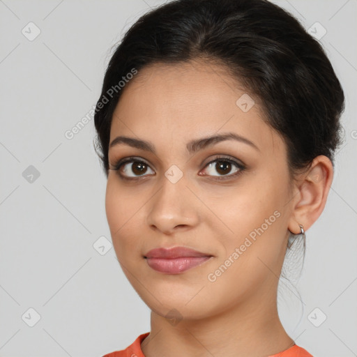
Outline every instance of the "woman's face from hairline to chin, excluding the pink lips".
<path id="1" fill-rule="evenodd" d="M 126 84 L 110 142 L 128 137 L 152 151 L 110 147 L 107 220 L 126 277 L 161 316 L 202 319 L 275 301 L 292 194 L 286 146 L 262 115 L 218 65 L 156 63 Z M 192 144 L 229 133 L 244 139 Z M 172 247 L 210 258 L 181 272 L 152 268 L 146 253 Z"/>

